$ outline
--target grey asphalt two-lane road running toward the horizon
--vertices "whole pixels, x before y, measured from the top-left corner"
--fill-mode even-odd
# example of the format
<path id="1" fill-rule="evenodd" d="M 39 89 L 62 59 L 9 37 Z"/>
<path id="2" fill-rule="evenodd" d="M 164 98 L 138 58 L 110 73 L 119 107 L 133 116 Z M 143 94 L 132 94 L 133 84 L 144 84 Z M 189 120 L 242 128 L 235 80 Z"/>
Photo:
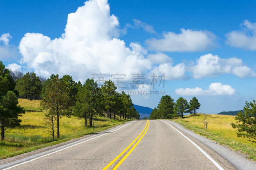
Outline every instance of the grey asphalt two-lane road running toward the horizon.
<path id="1" fill-rule="evenodd" d="M 123 126 L 10 169 L 235 169 L 164 121 L 138 120 Z"/>

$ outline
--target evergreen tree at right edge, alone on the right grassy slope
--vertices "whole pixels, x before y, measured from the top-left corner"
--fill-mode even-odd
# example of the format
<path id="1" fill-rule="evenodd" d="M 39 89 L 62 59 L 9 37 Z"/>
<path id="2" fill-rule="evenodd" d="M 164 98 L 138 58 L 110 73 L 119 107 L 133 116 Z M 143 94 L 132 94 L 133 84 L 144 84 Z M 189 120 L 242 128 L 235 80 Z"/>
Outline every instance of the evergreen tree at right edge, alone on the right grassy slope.
<path id="1" fill-rule="evenodd" d="M 233 128 L 238 128 L 238 137 L 247 137 L 249 141 L 256 143 L 256 104 L 255 100 L 245 102 L 244 113 L 237 113 L 236 124 L 232 123 Z"/>

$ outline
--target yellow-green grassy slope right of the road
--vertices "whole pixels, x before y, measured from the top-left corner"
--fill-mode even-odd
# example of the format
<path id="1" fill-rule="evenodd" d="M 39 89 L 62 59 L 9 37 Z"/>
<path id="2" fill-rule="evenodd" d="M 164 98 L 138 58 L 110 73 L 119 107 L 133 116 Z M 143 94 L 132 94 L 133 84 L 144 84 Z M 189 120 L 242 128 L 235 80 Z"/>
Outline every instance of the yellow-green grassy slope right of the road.
<path id="1" fill-rule="evenodd" d="M 197 134 L 205 136 L 219 144 L 228 145 L 235 151 L 247 155 L 247 158 L 256 161 L 256 143 L 246 141 L 246 138 L 236 136 L 237 129 L 233 129 L 230 123 L 236 122 L 235 116 L 231 115 L 207 115 L 209 124 L 204 130 L 204 119 L 202 114 L 187 115 L 185 118 L 172 121 L 180 123 L 185 128 L 194 130 Z"/>

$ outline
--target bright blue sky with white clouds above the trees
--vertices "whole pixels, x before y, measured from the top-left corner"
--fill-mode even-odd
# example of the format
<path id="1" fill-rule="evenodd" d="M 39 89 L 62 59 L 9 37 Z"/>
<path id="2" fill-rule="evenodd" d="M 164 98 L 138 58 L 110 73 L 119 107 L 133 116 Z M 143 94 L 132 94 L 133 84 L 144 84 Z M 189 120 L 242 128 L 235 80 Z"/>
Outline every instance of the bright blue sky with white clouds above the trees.
<path id="1" fill-rule="evenodd" d="M 238 110 L 256 98 L 255 8 L 255 1 L 0 1 L 0 60 L 81 81 L 119 72 L 126 90 L 141 90 L 128 87 L 129 76 L 146 73 L 142 90 L 196 96 L 199 112 Z M 167 75 L 164 88 L 152 89 L 152 72 Z M 160 98 L 132 96 L 151 108 Z"/>

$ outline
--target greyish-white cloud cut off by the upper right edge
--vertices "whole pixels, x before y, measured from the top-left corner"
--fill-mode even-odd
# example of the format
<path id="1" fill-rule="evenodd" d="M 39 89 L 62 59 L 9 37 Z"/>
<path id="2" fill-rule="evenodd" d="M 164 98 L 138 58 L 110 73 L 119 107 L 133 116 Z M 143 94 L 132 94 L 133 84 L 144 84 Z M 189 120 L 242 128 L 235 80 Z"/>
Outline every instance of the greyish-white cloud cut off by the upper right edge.
<path id="1" fill-rule="evenodd" d="M 226 44 L 232 47 L 256 50 L 256 23 L 245 20 L 240 25 L 242 30 L 235 30 L 226 34 Z"/>

